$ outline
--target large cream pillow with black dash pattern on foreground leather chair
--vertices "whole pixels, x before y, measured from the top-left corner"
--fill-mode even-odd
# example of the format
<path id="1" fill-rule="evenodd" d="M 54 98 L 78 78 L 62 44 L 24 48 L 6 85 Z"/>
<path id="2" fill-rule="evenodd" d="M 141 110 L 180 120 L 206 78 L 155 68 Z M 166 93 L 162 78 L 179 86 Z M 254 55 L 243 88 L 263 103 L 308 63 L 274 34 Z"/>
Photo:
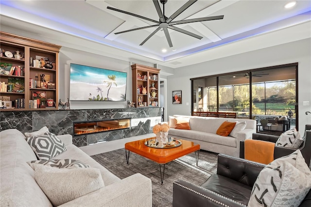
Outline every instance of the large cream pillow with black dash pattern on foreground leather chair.
<path id="1" fill-rule="evenodd" d="M 300 150 L 280 157 L 259 173 L 248 207 L 297 207 L 311 189 L 310 177 Z"/>

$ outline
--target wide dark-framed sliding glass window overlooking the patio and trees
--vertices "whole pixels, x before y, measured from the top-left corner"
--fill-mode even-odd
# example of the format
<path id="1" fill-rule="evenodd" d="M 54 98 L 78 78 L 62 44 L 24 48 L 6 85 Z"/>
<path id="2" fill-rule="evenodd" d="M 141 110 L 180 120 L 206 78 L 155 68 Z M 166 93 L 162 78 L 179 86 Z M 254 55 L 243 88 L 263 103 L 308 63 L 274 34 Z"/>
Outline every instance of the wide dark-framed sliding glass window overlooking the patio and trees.
<path id="1" fill-rule="evenodd" d="M 287 116 L 291 110 L 295 126 L 297 68 L 294 63 L 191 79 L 197 91 L 192 111 L 237 112 L 238 117 L 250 119 Z"/>

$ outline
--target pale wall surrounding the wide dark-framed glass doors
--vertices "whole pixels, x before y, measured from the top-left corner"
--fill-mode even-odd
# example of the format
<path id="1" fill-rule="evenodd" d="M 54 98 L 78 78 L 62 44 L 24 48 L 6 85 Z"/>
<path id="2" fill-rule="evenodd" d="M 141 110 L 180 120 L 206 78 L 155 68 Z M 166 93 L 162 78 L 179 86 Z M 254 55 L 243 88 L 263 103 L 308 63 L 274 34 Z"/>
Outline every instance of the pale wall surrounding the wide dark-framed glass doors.
<path id="1" fill-rule="evenodd" d="M 310 46 L 311 38 L 308 38 L 175 69 L 174 75 L 168 76 L 168 94 L 171 94 L 173 90 L 182 90 L 183 104 L 168 102 L 168 115 L 191 114 L 190 78 L 298 62 L 298 127 L 299 130 L 303 130 L 306 123 L 311 123 L 311 115 L 305 114 L 306 111 L 311 111 L 311 106 L 302 104 L 303 101 L 311 103 Z M 225 50 L 225 47 L 223 49 Z"/>

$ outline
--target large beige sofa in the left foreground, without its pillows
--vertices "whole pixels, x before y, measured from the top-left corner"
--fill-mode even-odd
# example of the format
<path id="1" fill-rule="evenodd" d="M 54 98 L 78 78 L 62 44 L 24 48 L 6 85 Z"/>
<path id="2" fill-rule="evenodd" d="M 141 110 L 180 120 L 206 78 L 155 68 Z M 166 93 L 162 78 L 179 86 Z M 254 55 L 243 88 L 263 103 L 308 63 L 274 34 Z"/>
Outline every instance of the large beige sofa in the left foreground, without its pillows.
<path id="1" fill-rule="evenodd" d="M 121 180 L 73 145 L 71 135 L 60 135 L 58 138 L 66 145 L 67 150 L 53 159 L 69 158 L 82 161 L 92 168 L 99 169 L 104 180 L 103 188 L 61 206 L 152 206 L 152 188 L 149 178 L 137 173 Z M 27 164 L 28 161 L 37 158 L 26 142 L 25 136 L 16 129 L 8 129 L 1 131 L 0 141 L 0 206 L 52 207 L 52 203 L 35 181 L 35 171 Z M 57 188 L 56 185 L 55 188 Z"/>

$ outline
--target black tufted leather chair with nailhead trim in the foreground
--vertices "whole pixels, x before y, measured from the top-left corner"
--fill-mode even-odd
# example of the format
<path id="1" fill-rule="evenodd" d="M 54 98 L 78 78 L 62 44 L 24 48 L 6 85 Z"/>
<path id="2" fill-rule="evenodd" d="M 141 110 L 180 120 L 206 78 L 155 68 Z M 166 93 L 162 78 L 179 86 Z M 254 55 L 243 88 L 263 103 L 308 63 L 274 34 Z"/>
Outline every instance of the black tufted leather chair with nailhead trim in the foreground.
<path id="1" fill-rule="evenodd" d="M 217 174 L 201 186 L 185 180 L 173 183 L 173 207 L 245 207 L 259 172 L 265 165 L 218 155 Z M 300 207 L 311 207 L 311 191 Z"/>

